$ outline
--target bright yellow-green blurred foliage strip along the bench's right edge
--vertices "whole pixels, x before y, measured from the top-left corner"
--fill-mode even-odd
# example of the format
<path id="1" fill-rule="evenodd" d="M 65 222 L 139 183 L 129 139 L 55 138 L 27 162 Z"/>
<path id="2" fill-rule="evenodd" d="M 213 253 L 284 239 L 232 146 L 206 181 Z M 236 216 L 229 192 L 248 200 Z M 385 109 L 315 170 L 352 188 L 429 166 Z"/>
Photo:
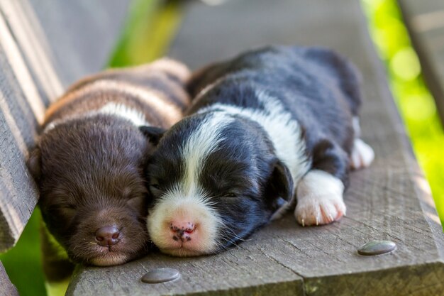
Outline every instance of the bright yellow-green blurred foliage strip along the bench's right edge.
<path id="1" fill-rule="evenodd" d="M 416 158 L 426 173 L 438 214 L 444 222 L 444 187 L 441 185 L 444 175 L 443 127 L 433 97 L 421 76 L 421 65 L 411 48 L 401 12 L 395 0 L 362 0 L 362 6 L 369 18 L 370 33 L 379 55 L 387 65 L 395 102 Z"/>

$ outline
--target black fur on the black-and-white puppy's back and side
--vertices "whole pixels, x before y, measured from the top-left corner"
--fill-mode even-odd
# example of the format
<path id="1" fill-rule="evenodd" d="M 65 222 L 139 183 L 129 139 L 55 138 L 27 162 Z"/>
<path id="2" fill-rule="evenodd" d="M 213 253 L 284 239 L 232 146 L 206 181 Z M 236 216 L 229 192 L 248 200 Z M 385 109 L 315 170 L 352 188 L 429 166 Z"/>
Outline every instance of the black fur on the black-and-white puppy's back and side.
<path id="1" fill-rule="evenodd" d="M 353 147 L 353 116 L 361 104 L 360 74 L 354 65 L 326 48 L 273 46 L 252 50 L 197 72 L 188 85 L 198 98 L 187 114 L 215 103 L 262 108 L 255 91 L 279 99 L 304 131 L 313 168 L 348 184 L 348 155 Z"/>

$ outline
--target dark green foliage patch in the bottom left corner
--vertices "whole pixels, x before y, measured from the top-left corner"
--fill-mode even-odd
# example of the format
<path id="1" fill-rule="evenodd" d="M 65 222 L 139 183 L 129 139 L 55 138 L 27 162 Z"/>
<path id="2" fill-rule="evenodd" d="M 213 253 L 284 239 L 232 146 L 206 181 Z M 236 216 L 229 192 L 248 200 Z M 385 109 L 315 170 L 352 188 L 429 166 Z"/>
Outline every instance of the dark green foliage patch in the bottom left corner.
<path id="1" fill-rule="evenodd" d="M 40 258 L 40 219 L 40 211 L 35 209 L 16 246 L 0 254 L 0 261 L 21 296 L 46 295 Z"/>

